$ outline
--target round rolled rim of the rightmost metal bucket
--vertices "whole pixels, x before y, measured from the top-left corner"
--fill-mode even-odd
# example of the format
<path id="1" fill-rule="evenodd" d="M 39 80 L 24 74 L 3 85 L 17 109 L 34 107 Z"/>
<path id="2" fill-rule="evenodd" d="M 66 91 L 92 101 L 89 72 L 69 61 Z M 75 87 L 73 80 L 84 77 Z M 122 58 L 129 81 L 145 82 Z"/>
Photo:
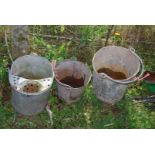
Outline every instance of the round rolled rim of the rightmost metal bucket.
<path id="1" fill-rule="evenodd" d="M 99 50 L 94 54 L 93 59 L 92 59 L 93 70 L 94 70 L 95 73 L 98 74 L 98 75 L 100 75 L 100 74 L 96 71 L 96 68 L 95 68 L 95 66 L 94 66 L 94 59 L 95 59 L 96 55 L 97 55 L 99 52 L 103 52 L 102 50 L 104 50 L 104 49 L 106 49 L 106 48 L 109 48 L 109 47 L 112 47 L 112 48 L 116 47 L 116 48 L 122 48 L 122 49 L 125 49 L 125 50 L 129 50 L 129 52 L 131 52 L 131 53 L 132 53 L 135 57 L 137 57 L 137 59 L 140 61 L 139 56 L 138 56 L 136 53 L 130 51 L 130 49 L 127 49 L 127 48 L 124 48 L 124 47 L 121 47 L 121 46 L 105 46 L 105 47 L 102 47 L 101 49 L 99 49 Z M 104 76 L 101 75 L 101 77 L 102 77 L 102 78 L 106 78 L 106 77 L 107 77 L 107 78 L 108 78 L 109 80 L 111 80 L 111 81 L 115 81 L 115 82 L 117 82 L 117 83 L 119 83 L 119 82 L 121 83 L 121 82 L 127 82 L 128 80 L 131 80 L 132 78 L 135 78 L 136 75 L 139 73 L 139 71 L 140 71 L 140 67 L 139 67 L 139 69 L 136 70 L 136 72 L 135 72 L 132 76 L 128 77 L 127 79 L 123 79 L 123 80 L 115 80 L 115 79 L 111 78 L 110 76 L 108 76 L 107 74 L 104 74 L 104 73 L 103 73 Z"/>

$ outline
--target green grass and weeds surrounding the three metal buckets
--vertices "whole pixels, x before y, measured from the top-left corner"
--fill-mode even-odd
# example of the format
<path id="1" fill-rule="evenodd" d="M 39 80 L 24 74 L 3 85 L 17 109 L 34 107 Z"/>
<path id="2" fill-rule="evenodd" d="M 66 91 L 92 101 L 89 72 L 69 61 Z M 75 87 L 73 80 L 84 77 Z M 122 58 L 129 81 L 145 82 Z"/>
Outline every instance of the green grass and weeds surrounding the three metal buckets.
<path id="1" fill-rule="evenodd" d="M 30 26 L 30 32 L 36 35 L 29 37 L 29 51 L 36 52 L 50 61 L 69 58 L 80 60 L 92 69 L 92 56 L 104 45 L 107 28 L 107 26 Z M 51 39 L 38 34 L 74 39 Z M 3 30 L 0 31 L 0 36 L 3 37 Z M 120 42 L 120 37 L 115 37 L 113 34 L 110 37 L 112 44 Z M 96 98 L 91 82 L 79 102 L 67 104 L 58 98 L 54 82 L 49 97 L 53 126 L 45 110 L 31 117 L 18 114 L 10 101 L 6 69 L 10 61 L 4 43 L 0 44 L 0 128 L 155 128 L 155 111 L 151 109 L 153 105 L 133 100 L 134 96 L 149 94 L 143 82 L 130 85 L 124 98 L 114 106 L 108 106 Z M 139 45 L 137 52 L 144 61 L 145 69 L 155 70 L 153 50 L 151 51 L 148 45 L 145 47 Z"/>

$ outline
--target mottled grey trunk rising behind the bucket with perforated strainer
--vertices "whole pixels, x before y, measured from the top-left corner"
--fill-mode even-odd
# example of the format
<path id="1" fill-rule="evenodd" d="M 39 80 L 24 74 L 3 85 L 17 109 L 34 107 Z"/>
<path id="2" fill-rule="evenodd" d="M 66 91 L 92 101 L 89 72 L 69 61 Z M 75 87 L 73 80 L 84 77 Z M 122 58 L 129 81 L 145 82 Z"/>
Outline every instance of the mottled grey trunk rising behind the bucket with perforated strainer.
<path id="1" fill-rule="evenodd" d="M 12 26 L 11 34 L 13 59 L 28 54 L 28 26 Z"/>

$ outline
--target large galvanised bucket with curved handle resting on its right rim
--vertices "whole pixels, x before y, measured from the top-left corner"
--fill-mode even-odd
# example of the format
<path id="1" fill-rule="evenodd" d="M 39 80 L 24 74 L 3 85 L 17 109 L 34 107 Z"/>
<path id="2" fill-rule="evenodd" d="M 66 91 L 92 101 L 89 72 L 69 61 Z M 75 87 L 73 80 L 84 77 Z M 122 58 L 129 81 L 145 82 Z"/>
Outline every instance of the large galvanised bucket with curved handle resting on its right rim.
<path id="1" fill-rule="evenodd" d="M 137 81 L 143 74 L 143 62 L 133 48 L 107 46 L 94 55 L 93 90 L 97 98 L 103 102 L 114 104 L 120 101 L 129 83 Z M 123 73 L 125 78 L 114 79 L 105 72 L 108 68 L 114 73 Z"/>

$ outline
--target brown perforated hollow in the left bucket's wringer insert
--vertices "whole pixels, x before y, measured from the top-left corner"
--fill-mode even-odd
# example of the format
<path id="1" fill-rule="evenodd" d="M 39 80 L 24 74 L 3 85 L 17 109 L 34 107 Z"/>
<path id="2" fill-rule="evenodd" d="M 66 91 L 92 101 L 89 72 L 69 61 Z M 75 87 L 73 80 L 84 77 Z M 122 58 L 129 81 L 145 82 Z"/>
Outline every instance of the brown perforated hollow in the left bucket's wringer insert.
<path id="1" fill-rule="evenodd" d="M 26 93 L 36 93 L 39 92 L 39 90 L 39 85 L 34 83 L 28 83 L 23 87 L 23 91 Z"/>

